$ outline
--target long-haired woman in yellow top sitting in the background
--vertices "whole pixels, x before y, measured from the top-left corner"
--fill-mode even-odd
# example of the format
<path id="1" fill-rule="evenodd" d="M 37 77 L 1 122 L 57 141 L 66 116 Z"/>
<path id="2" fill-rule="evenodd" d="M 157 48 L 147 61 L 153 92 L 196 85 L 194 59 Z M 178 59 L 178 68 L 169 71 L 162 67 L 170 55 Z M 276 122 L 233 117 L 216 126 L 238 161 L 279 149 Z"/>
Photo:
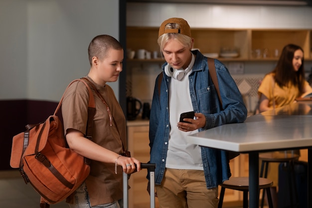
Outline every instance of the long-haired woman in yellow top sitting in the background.
<path id="1" fill-rule="evenodd" d="M 288 44 L 283 48 L 275 69 L 264 77 L 258 89 L 259 111 L 288 105 L 311 92 L 312 87 L 305 79 L 304 50 Z"/>

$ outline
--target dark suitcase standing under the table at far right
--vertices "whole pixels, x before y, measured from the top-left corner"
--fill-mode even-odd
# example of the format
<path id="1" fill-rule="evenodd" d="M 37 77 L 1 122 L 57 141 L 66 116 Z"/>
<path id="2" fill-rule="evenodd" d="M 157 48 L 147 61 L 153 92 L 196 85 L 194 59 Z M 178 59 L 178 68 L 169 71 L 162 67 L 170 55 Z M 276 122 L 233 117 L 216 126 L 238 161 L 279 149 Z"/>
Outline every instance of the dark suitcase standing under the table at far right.
<path id="1" fill-rule="evenodd" d="M 308 163 L 295 161 L 293 165 L 293 169 L 289 163 L 279 165 L 279 208 L 308 208 Z"/>

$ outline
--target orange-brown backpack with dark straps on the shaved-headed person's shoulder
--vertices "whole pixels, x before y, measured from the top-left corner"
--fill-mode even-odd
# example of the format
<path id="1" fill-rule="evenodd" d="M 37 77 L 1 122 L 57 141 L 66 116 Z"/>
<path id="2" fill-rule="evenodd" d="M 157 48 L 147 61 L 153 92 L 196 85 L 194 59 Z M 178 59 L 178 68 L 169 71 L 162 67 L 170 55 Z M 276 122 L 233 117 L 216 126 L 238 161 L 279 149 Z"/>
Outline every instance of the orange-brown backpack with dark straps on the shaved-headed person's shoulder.
<path id="1" fill-rule="evenodd" d="M 87 138 L 91 139 L 95 102 L 89 85 Z M 67 88 L 68 88 L 67 87 Z M 66 88 L 66 89 L 67 89 Z M 10 166 L 19 168 L 25 183 L 30 183 L 41 196 L 40 208 L 59 203 L 70 196 L 88 177 L 89 160 L 67 147 L 63 124 L 54 114 L 36 125 L 26 125 L 26 131 L 13 137 Z"/>

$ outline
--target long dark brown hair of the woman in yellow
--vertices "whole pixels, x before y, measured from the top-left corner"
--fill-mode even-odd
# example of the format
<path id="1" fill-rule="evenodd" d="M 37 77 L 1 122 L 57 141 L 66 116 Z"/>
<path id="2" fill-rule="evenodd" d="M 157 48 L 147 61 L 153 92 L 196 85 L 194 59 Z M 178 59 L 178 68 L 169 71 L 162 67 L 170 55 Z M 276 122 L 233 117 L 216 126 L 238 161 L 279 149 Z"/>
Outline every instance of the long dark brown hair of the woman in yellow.
<path id="1" fill-rule="evenodd" d="M 283 48 L 280 59 L 278 60 L 277 65 L 272 72 L 274 73 L 276 83 L 280 87 L 292 84 L 297 86 L 302 93 L 305 86 L 304 58 L 302 59 L 302 64 L 298 71 L 295 71 L 293 66 L 294 54 L 298 49 L 304 52 L 302 47 L 299 45 L 286 45 Z"/>

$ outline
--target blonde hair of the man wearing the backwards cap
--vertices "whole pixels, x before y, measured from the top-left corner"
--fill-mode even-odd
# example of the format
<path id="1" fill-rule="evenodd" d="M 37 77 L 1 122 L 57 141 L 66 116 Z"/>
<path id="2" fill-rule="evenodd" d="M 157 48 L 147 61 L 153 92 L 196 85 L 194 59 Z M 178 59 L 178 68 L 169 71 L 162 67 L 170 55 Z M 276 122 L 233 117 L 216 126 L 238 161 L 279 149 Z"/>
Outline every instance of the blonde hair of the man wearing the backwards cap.
<path id="1" fill-rule="evenodd" d="M 168 23 L 165 26 L 165 29 L 179 29 L 179 28 L 180 28 L 180 25 L 177 23 Z M 157 43 L 160 47 L 160 51 L 162 51 L 164 45 L 169 39 L 176 39 L 185 47 L 190 48 L 192 46 L 192 38 L 187 35 L 183 35 L 179 33 L 164 33 L 160 35 L 157 39 Z"/>

